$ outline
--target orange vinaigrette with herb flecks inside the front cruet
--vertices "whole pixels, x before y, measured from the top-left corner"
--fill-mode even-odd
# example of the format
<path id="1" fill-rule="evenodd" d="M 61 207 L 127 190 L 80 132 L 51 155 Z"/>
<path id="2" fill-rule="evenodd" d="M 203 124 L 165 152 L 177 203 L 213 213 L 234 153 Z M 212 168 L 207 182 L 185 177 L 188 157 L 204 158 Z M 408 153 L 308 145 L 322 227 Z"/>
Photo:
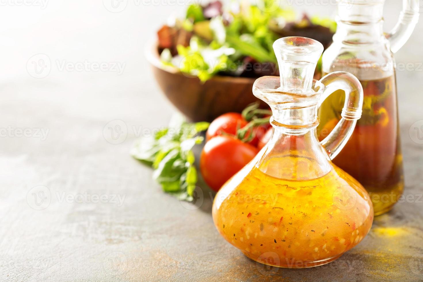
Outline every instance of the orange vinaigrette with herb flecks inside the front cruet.
<path id="1" fill-rule="evenodd" d="M 247 257 L 273 266 L 329 263 L 357 245 L 373 222 L 363 186 L 336 166 L 320 178 L 292 181 L 249 165 L 216 197 L 224 198 L 213 208 L 220 234 Z"/>

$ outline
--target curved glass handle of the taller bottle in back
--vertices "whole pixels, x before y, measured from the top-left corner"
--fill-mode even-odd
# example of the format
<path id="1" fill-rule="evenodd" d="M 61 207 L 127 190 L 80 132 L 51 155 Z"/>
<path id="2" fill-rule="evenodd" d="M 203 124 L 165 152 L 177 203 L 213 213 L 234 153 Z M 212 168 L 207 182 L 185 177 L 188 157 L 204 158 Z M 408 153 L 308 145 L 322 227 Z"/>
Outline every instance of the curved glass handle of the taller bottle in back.
<path id="1" fill-rule="evenodd" d="M 419 0 L 403 0 L 402 11 L 395 27 L 387 33 L 391 51 L 397 52 L 410 38 L 419 20 Z"/>

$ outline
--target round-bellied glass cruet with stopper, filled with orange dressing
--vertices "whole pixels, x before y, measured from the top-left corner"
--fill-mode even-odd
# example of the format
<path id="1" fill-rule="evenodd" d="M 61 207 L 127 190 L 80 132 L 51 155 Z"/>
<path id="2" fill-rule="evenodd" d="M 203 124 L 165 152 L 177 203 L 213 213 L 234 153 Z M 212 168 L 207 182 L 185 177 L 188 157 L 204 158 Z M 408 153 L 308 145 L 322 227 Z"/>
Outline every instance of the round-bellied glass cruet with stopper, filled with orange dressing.
<path id="1" fill-rule="evenodd" d="M 272 109 L 273 135 L 214 198 L 219 233 L 260 263 L 305 268 L 329 263 L 358 244 L 373 222 L 368 193 L 331 162 L 361 115 L 363 89 L 346 72 L 313 79 L 323 46 L 286 37 L 273 44 L 280 77 L 261 77 L 253 93 Z M 321 143 L 317 109 L 343 89 L 342 119 Z"/>

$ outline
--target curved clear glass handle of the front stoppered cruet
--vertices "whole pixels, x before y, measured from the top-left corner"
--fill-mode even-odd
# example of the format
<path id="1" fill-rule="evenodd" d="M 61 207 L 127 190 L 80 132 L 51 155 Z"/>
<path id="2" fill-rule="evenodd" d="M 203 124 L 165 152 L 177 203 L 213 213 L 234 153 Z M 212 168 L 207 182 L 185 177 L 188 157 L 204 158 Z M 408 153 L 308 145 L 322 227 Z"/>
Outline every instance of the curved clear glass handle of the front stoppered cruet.
<path id="1" fill-rule="evenodd" d="M 357 120 L 361 118 L 363 108 L 363 87 L 357 77 L 346 71 L 335 71 L 320 79 L 325 88 L 319 107 L 323 101 L 336 90 L 345 91 L 345 103 L 341 113 L 341 120 L 320 143 L 326 149 L 330 159 L 335 158 L 348 142 L 354 131 Z"/>

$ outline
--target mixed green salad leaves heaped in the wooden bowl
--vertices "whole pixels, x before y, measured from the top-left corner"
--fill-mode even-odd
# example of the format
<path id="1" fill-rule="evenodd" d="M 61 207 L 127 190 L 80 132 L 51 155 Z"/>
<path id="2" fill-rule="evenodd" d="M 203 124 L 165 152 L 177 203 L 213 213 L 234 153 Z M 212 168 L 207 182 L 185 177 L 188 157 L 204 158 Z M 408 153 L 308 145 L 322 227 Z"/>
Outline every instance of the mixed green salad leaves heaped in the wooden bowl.
<path id="1" fill-rule="evenodd" d="M 220 72 L 242 76 L 245 64 L 254 61 L 276 65 L 273 43 L 282 36 L 280 32 L 287 23 L 294 23 L 297 17 L 292 8 L 280 7 L 276 0 L 257 0 L 255 4 L 235 1 L 231 9 L 219 11 L 211 19 L 204 16 L 207 9 L 210 6 L 198 4 L 187 8 L 186 18 L 179 20 L 179 28 L 185 31 L 178 38 L 181 41 L 176 41 L 180 45 L 165 49 L 162 56 L 165 65 L 198 77 L 201 82 Z M 318 16 L 296 24 L 307 27 L 310 22 L 336 30 L 332 19 Z"/>

